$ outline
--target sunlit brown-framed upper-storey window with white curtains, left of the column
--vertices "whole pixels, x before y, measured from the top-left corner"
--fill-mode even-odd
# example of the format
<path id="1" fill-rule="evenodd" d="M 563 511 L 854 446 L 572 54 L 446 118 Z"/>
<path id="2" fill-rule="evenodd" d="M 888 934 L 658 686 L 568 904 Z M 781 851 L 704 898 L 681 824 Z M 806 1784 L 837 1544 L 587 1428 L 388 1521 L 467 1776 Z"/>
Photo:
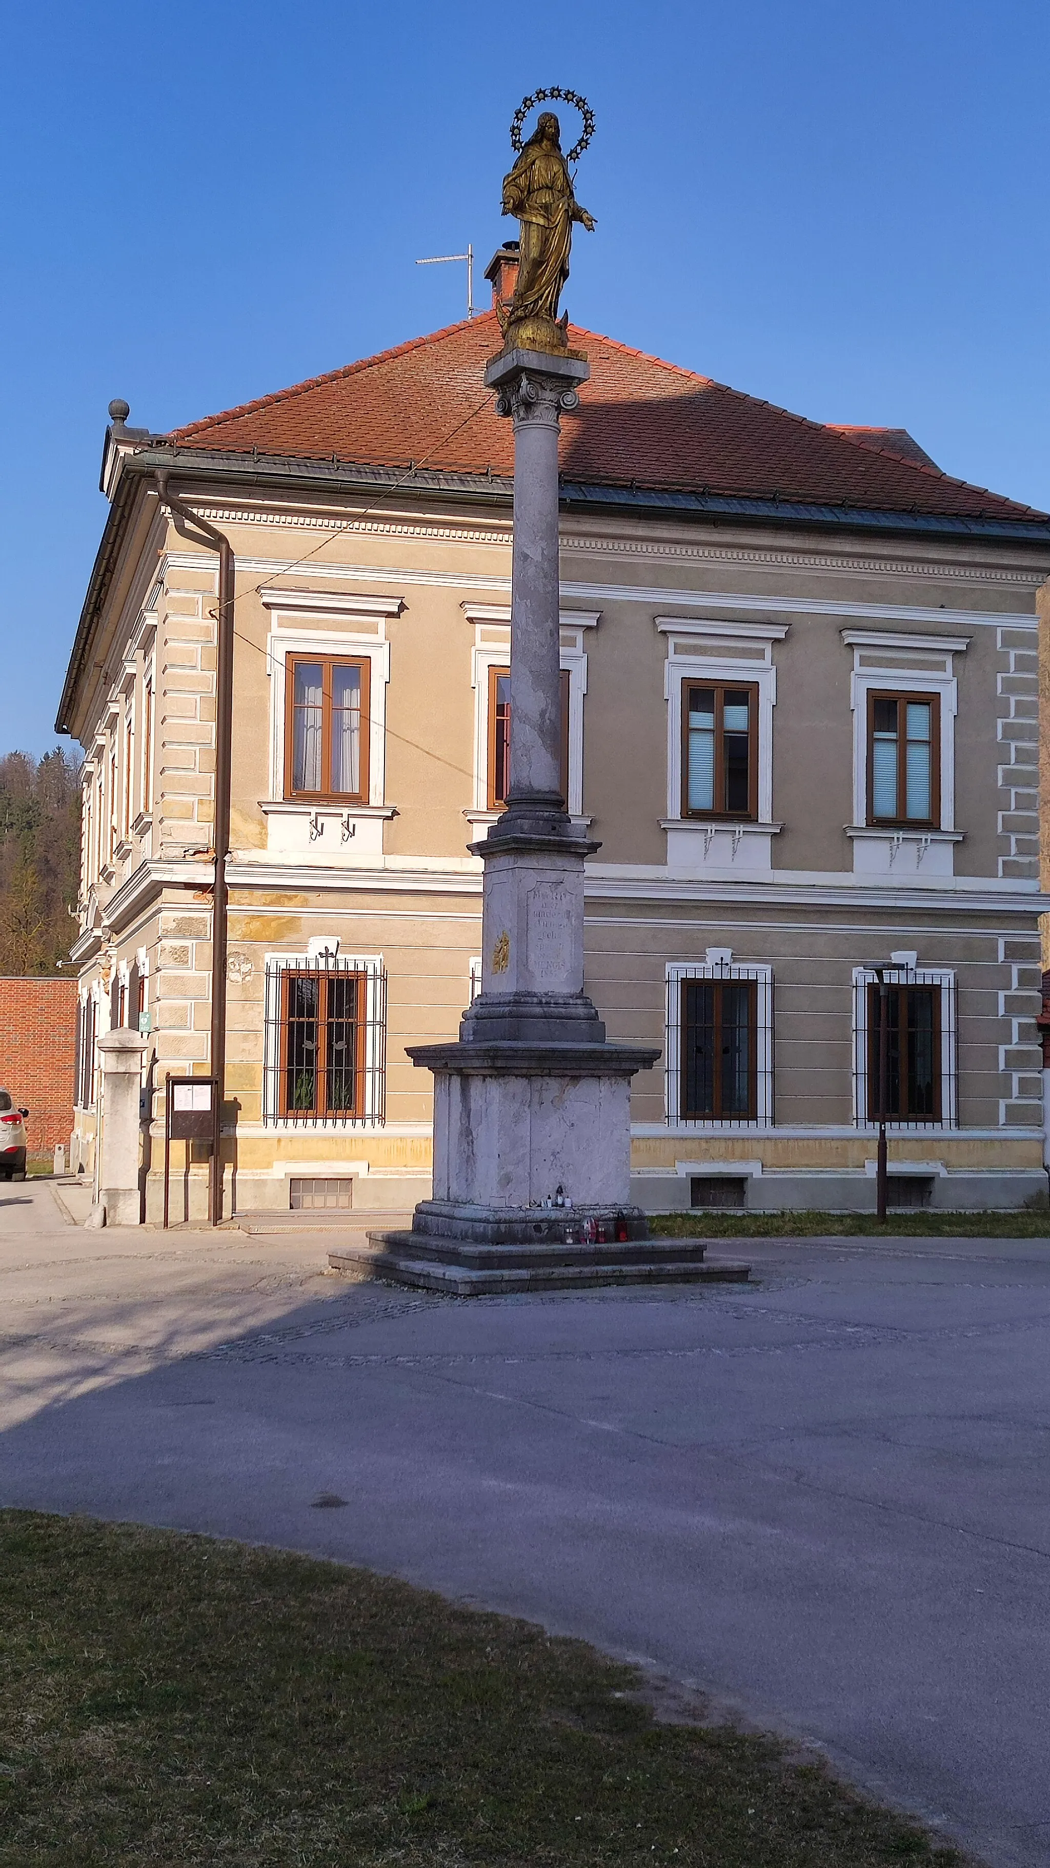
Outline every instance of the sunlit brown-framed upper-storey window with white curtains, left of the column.
<path id="1" fill-rule="evenodd" d="M 368 658 L 288 658 L 286 798 L 368 801 Z"/>

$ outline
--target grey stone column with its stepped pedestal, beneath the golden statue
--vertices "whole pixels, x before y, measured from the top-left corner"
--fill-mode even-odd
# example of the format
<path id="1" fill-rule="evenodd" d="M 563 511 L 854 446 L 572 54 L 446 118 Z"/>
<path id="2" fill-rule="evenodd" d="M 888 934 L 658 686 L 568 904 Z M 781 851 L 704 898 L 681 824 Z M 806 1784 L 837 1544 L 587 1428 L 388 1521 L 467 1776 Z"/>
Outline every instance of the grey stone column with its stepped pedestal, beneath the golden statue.
<path id="1" fill-rule="evenodd" d="M 600 1283 L 747 1278 L 704 1242 L 650 1238 L 630 1203 L 630 1091 L 660 1046 L 615 1044 L 583 990 L 583 865 L 560 798 L 559 415 L 589 375 L 572 355 L 514 351 L 486 383 L 514 417 L 510 790 L 482 842 L 482 990 L 433 1070 L 433 1197 L 411 1231 L 333 1252 L 336 1270 L 460 1296 Z M 564 1197 L 570 1205 L 553 1205 Z"/>

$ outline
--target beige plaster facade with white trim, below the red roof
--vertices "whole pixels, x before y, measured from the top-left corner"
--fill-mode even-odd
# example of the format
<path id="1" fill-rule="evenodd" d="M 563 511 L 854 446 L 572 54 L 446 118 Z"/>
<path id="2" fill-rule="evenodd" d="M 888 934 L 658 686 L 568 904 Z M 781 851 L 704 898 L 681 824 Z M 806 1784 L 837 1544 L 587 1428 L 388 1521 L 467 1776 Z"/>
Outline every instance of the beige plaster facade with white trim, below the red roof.
<path id="1" fill-rule="evenodd" d="M 148 1029 L 144 1182 L 157 1218 L 163 1082 L 209 1065 L 217 560 L 179 536 L 149 461 L 148 443 L 110 435 L 116 517 L 65 725 L 86 751 L 73 951 L 84 1046 L 116 1022 Z M 334 473 L 310 489 L 177 471 L 179 497 L 235 553 L 226 1210 L 286 1209 L 291 1182 L 316 1179 L 351 1179 L 355 1207 L 407 1207 L 428 1192 L 432 1089 L 405 1046 L 456 1035 L 480 943 L 467 844 L 490 822 L 488 671 L 510 650 L 506 488 L 452 495 L 435 478 L 368 493 Z M 719 1173 L 744 1181 L 753 1207 L 873 1203 L 858 969 L 899 953 L 942 994 L 945 1080 L 938 1123 L 891 1128 L 891 1171 L 914 1171 L 945 1207 L 1044 1194 L 1037 601 L 1048 570 L 1044 544 L 1003 536 L 566 510 L 570 809 L 602 842 L 587 865 L 587 990 L 611 1037 L 665 1046 L 633 1087 L 648 1209 L 689 1205 L 697 1177 Z M 290 652 L 368 663 L 357 805 L 286 798 Z M 759 689 L 760 809 L 744 826 L 682 818 L 682 680 L 708 674 Z M 932 829 L 865 822 L 873 686 L 940 699 Z M 273 1057 L 267 1078 L 267 979 L 282 958 L 336 941 L 383 975 L 381 1097 L 362 1119 L 288 1119 Z M 680 1117 L 667 1035 L 678 975 L 708 964 L 760 981 L 762 1083 L 747 1121 Z M 73 1158 L 86 1171 L 95 1082 L 84 1055 Z M 181 1143 L 176 1156 L 181 1173 Z M 198 1160 L 194 1214 L 204 1181 Z"/>

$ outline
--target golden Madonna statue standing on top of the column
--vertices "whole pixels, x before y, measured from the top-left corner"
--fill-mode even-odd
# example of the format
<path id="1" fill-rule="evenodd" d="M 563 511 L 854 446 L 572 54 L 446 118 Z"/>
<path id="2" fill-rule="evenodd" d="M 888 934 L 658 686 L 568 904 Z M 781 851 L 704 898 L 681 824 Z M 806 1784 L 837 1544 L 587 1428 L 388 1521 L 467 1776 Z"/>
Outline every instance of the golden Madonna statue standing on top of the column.
<path id="1" fill-rule="evenodd" d="M 521 222 L 518 286 L 510 312 L 501 310 L 504 349 L 568 349 L 568 312 L 559 297 L 568 278 L 572 224 L 589 234 L 594 220 L 575 200 L 560 149 L 560 125 L 544 110 L 514 168 L 503 181 L 503 213 Z"/>

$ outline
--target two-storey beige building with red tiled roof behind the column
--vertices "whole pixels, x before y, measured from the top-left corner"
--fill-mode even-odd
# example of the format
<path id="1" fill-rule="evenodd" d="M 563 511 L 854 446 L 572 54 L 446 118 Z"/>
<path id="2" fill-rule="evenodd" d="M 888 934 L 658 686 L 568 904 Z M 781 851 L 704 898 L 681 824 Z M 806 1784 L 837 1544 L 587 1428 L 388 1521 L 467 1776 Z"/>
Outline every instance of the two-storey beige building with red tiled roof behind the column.
<path id="1" fill-rule="evenodd" d="M 490 276 L 508 297 L 514 250 Z M 564 788 L 587 990 L 660 1042 L 637 1199 L 1044 1197 L 1037 607 L 1050 517 L 605 336 L 562 420 Z M 86 751 L 75 1158 L 97 1037 L 207 1072 L 217 557 L 234 551 L 226 1212 L 407 1207 L 503 805 L 512 435 L 495 310 L 168 435 L 114 403 L 58 727 Z M 168 476 L 166 482 L 159 476 Z M 194 1168 L 194 1210 L 206 1168 Z M 572 1190 L 570 1190 L 572 1192 Z"/>

